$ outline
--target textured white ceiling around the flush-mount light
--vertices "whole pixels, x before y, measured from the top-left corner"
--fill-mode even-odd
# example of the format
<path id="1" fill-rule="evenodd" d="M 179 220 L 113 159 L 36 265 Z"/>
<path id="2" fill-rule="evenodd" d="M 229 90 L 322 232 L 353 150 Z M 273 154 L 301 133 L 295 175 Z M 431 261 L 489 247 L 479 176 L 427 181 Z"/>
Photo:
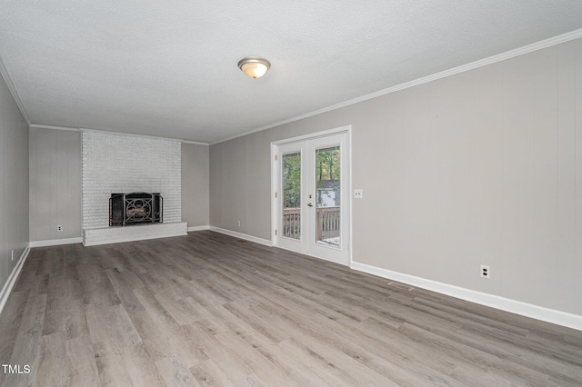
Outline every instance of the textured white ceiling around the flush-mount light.
<path id="1" fill-rule="evenodd" d="M 214 143 L 579 28 L 580 0 L 0 0 L 0 59 L 32 124 Z"/>

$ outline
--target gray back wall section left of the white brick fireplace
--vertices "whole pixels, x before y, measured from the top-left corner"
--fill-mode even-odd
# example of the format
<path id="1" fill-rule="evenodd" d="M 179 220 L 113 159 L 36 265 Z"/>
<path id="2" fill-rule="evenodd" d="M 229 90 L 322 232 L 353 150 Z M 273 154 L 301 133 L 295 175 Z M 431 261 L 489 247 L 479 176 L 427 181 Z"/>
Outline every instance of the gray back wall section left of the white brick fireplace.
<path id="1" fill-rule="evenodd" d="M 31 241 L 81 237 L 81 178 L 81 133 L 31 127 Z"/>

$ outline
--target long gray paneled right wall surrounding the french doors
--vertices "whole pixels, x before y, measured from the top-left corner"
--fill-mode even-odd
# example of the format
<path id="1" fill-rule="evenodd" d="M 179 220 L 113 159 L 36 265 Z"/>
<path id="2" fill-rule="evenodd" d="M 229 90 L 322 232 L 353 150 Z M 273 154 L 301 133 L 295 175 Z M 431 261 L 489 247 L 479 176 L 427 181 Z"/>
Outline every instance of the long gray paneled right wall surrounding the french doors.
<path id="1" fill-rule="evenodd" d="M 212 145 L 210 224 L 270 239 L 270 142 L 347 124 L 353 261 L 582 315 L 582 39 Z"/>

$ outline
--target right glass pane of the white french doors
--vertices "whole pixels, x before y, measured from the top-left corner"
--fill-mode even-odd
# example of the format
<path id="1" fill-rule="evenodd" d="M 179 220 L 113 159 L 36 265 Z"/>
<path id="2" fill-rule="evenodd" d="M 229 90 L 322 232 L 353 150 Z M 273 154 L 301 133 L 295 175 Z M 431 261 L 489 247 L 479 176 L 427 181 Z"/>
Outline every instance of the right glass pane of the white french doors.
<path id="1" fill-rule="evenodd" d="M 316 149 L 316 243 L 340 246 L 339 146 Z"/>

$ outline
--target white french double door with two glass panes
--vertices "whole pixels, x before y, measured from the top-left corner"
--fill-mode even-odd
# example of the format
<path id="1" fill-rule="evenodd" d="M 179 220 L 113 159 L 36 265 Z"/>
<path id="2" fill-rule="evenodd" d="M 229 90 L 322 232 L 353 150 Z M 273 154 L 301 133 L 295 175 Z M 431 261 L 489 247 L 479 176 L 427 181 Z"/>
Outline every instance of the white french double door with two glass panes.
<path id="1" fill-rule="evenodd" d="M 349 264 L 346 132 L 274 146 L 276 246 Z"/>

